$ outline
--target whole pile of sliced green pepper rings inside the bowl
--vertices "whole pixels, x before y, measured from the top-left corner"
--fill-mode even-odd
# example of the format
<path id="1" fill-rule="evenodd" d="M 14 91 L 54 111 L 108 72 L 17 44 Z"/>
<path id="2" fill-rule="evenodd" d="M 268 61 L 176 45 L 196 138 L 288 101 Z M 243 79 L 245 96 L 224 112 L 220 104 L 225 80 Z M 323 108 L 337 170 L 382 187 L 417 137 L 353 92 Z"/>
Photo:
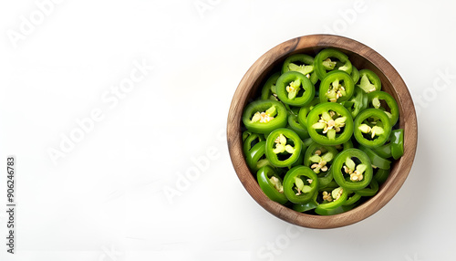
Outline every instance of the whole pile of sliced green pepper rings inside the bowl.
<path id="1" fill-rule="evenodd" d="M 285 58 L 244 108 L 245 162 L 264 194 L 306 214 L 340 214 L 375 196 L 404 153 L 399 106 L 342 51 Z"/>

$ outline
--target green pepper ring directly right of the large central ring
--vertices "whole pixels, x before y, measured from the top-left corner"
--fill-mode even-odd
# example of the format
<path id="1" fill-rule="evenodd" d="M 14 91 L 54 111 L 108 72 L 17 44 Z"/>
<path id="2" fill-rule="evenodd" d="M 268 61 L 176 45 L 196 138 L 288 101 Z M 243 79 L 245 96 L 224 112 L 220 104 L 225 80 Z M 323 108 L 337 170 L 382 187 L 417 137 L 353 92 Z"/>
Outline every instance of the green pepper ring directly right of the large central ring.
<path id="1" fill-rule="evenodd" d="M 391 133 L 391 123 L 382 110 L 363 110 L 355 119 L 353 133 L 355 139 L 368 148 L 378 148 L 385 144 L 389 139 L 389 133 Z"/>

